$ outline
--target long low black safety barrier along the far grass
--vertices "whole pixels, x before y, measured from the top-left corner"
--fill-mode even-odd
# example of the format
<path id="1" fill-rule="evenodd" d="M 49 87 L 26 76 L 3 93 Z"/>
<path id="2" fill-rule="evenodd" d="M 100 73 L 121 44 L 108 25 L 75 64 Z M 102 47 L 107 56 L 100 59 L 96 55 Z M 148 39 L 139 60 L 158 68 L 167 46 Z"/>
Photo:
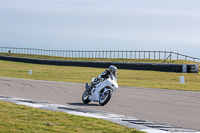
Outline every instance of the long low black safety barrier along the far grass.
<path id="1" fill-rule="evenodd" d="M 108 68 L 110 65 L 116 65 L 119 69 L 129 70 L 151 70 L 179 73 L 198 73 L 198 64 L 165 64 L 165 63 L 128 63 L 128 62 L 92 62 L 92 61 L 66 61 L 66 60 L 41 60 L 20 57 L 0 56 L 0 60 L 59 65 L 59 66 L 81 66 Z"/>

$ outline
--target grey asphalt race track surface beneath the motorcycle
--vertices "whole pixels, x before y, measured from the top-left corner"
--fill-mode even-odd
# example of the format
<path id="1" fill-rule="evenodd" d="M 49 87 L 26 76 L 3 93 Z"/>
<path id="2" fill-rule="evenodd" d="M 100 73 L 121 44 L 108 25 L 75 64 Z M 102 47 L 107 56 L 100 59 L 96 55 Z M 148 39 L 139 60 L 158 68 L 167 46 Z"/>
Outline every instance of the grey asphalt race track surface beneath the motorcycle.
<path id="1" fill-rule="evenodd" d="M 200 130 L 200 92 L 120 86 L 105 106 L 83 104 L 84 84 L 0 77 L 0 96 L 106 111 Z"/>

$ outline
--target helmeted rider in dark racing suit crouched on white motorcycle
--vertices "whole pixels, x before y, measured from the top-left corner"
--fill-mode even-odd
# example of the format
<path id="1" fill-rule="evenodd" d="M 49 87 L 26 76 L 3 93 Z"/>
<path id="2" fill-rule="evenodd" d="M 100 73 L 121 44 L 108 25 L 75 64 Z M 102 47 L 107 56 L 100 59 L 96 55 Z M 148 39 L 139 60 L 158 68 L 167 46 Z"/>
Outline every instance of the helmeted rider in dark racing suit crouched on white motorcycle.
<path id="1" fill-rule="evenodd" d="M 97 78 L 94 79 L 93 82 L 87 87 L 87 90 L 91 92 L 91 89 L 98 84 L 100 81 L 109 78 L 109 75 L 114 75 L 117 78 L 117 67 L 114 65 L 110 65 L 110 67 L 105 70 L 102 74 L 100 74 Z"/>

